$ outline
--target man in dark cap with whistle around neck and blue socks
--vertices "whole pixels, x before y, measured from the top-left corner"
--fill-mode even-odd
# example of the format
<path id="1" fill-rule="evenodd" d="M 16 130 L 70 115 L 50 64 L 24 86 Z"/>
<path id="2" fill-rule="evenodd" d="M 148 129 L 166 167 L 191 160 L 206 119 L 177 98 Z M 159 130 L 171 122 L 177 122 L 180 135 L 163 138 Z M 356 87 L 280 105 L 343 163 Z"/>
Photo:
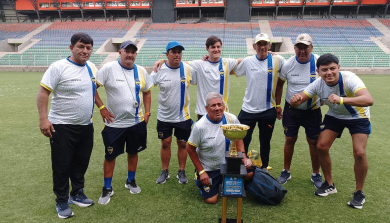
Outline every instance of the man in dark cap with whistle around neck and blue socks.
<path id="1" fill-rule="evenodd" d="M 134 63 L 137 46 L 132 41 L 120 45 L 120 59 L 104 64 L 97 72 L 97 87 L 104 86 L 107 94 L 105 105 L 97 91 L 96 106 L 104 121 L 101 131 L 105 148 L 103 162 L 104 186 L 99 198 L 100 204 L 107 204 L 113 194 L 111 181 L 115 158 L 127 152 L 127 180 L 124 186 L 132 194 L 141 189 L 135 183 L 138 152 L 146 148 L 146 124 L 150 116 L 150 89 L 153 83 L 145 68 Z M 145 108 L 142 114 L 141 106 Z"/>

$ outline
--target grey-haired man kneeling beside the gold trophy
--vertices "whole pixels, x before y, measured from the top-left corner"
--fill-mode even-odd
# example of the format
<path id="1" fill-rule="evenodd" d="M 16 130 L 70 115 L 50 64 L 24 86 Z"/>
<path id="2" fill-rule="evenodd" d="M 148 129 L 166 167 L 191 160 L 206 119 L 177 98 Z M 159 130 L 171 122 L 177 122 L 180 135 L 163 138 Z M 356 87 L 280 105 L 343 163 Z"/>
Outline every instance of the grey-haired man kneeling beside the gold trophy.
<path id="1" fill-rule="evenodd" d="M 218 198 L 219 184 L 222 183 L 220 163 L 225 163 L 225 151 L 228 151 L 230 140 L 223 135 L 220 126 L 228 123 L 239 123 L 234 114 L 224 112 L 223 96 L 210 92 L 206 98 L 207 114 L 194 125 L 188 138 L 188 155 L 197 171 L 196 185 L 200 189 L 204 202 L 215 203 Z M 248 171 L 243 179 L 253 177 L 252 162 L 244 153 L 242 140 L 236 142 L 237 150 L 243 152 L 242 162 Z"/>

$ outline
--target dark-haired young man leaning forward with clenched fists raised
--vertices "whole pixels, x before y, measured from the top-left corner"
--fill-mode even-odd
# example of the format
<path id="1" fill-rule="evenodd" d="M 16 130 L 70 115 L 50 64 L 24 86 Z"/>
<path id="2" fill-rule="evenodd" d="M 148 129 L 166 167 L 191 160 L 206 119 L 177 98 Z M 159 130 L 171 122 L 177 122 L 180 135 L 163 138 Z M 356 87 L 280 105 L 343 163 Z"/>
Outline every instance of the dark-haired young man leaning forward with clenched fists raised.
<path id="1" fill-rule="evenodd" d="M 355 192 L 347 204 L 360 209 L 365 201 L 365 195 L 362 192 L 368 169 L 365 146 L 368 135 L 371 133 L 369 106 L 373 104 L 373 99 L 356 74 L 350 71 L 340 72 L 336 56 L 323 54 L 317 59 L 316 66 L 321 78 L 310 83 L 300 94 L 295 93 L 290 99 L 291 106 L 297 107 L 318 95 L 329 106 L 323 118 L 317 142 L 319 163 L 325 181 L 320 188 L 315 190 L 314 194 L 326 196 L 337 192 L 332 181 L 329 148 L 346 127 L 352 137 L 356 180 Z"/>

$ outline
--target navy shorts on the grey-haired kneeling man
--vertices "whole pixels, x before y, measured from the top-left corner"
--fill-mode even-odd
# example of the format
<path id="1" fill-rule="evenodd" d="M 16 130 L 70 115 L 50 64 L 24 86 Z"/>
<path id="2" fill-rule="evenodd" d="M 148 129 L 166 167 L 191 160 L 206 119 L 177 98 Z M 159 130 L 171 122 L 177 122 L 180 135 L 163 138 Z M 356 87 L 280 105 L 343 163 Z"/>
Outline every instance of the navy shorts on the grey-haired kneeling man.
<path id="1" fill-rule="evenodd" d="M 246 169 L 246 172 L 253 172 L 253 169 Z M 222 175 L 220 174 L 220 169 L 209 170 L 206 171 L 208 177 L 211 178 L 212 184 L 209 186 L 203 186 L 200 182 L 199 174 L 196 172 L 196 181 L 195 184 L 199 187 L 200 195 L 202 195 L 203 199 L 208 199 L 210 197 L 215 196 L 215 194 L 219 193 L 219 184 L 222 184 Z"/>

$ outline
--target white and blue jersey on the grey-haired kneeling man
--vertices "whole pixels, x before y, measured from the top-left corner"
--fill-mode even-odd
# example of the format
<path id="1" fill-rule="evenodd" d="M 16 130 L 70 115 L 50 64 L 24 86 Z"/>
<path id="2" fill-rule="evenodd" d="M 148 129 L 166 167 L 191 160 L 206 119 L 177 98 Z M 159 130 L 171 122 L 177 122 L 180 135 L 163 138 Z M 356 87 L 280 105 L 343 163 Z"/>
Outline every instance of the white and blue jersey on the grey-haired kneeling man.
<path id="1" fill-rule="evenodd" d="M 214 122 L 204 115 L 192 127 L 188 143 L 197 147 L 196 153 L 204 170 L 220 168 L 225 163 L 225 151 L 229 150 L 230 140 L 222 132 L 222 124 L 239 124 L 234 114 L 224 112 L 222 120 Z"/>

